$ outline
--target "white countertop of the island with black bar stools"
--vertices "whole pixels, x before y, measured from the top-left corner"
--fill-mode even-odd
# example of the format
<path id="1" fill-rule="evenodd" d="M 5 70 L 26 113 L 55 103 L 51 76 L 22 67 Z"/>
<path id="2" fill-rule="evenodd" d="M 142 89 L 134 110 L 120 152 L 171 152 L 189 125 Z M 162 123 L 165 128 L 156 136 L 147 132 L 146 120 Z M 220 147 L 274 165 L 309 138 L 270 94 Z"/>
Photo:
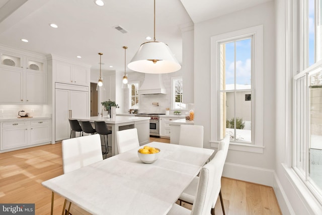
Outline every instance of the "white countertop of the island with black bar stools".
<path id="1" fill-rule="evenodd" d="M 105 121 L 107 124 L 120 124 L 120 123 L 130 123 L 137 121 L 150 120 L 149 117 L 126 117 L 126 116 L 116 116 L 115 118 L 106 118 L 106 117 L 87 117 L 87 118 L 74 118 L 78 121 Z"/>

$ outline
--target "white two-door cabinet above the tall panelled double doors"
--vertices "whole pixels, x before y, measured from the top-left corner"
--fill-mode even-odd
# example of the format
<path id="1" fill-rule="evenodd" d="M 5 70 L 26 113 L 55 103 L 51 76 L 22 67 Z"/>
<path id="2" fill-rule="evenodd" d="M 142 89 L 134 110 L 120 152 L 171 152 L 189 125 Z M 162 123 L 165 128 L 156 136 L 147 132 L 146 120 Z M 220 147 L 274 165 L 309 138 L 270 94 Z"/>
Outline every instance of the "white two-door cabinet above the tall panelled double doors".
<path id="1" fill-rule="evenodd" d="M 89 85 L 89 70 L 71 63 L 55 61 L 56 82 Z"/>

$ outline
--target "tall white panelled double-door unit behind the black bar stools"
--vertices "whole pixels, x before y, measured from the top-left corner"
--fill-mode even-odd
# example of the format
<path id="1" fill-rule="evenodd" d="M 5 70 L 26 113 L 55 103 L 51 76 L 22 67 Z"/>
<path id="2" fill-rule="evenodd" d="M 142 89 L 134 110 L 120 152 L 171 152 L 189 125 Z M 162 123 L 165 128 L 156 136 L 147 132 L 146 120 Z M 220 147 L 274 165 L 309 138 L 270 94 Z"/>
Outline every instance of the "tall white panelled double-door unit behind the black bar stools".
<path id="1" fill-rule="evenodd" d="M 55 141 L 68 139 L 69 118 L 89 116 L 89 92 L 86 86 L 56 83 Z"/>

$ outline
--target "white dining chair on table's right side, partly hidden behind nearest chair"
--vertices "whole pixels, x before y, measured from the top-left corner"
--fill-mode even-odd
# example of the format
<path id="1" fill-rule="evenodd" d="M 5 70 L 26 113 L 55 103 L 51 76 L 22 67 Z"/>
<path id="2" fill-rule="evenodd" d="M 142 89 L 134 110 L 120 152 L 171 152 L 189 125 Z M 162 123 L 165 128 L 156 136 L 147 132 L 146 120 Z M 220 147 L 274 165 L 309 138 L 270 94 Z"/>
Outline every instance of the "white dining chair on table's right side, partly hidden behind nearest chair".
<path id="1" fill-rule="evenodd" d="M 226 160 L 226 157 L 227 157 L 228 148 L 229 148 L 229 142 L 230 142 L 229 136 L 226 136 L 218 144 L 218 151 L 217 151 L 217 153 L 218 152 L 222 152 L 223 155 L 224 155 L 224 161 L 222 163 L 222 167 L 221 167 L 221 170 L 220 170 L 220 177 L 222 175 L 223 166 L 224 166 L 224 163 L 225 163 L 225 160 Z M 188 187 L 183 191 L 183 193 L 179 197 L 180 204 L 181 204 L 181 201 L 187 202 L 187 203 L 190 203 L 190 204 L 193 204 L 194 203 L 195 195 L 196 195 L 196 190 L 197 190 L 197 185 L 198 185 L 198 181 L 199 181 L 199 177 L 196 176 L 192 180 L 192 182 L 188 185 Z M 223 212 L 223 214 L 225 214 L 224 205 L 223 205 L 223 199 L 222 199 L 220 187 L 221 187 L 221 185 L 219 184 L 219 192 L 217 193 L 216 197 L 213 199 L 213 203 L 212 203 L 212 206 L 211 206 L 211 208 L 212 208 L 211 213 L 212 214 L 214 214 L 214 208 L 215 208 L 215 204 L 216 204 L 216 201 L 217 201 L 218 194 L 219 194 L 219 199 L 220 199 L 220 203 L 221 203 L 222 212 Z"/>

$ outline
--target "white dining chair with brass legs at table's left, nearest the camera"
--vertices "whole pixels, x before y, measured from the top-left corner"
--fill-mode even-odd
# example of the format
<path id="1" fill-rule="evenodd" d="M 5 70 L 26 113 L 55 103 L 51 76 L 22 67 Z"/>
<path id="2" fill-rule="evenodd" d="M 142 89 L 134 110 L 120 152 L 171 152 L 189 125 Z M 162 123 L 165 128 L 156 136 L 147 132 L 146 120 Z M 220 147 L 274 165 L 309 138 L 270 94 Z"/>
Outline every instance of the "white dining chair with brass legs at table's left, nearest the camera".
<path id="1" fill-rule="evenodd" d="M 61 148 L 64 174 L 103 160 L 99 134 L 63 140 Z M 65 199 L 63 211 L 66 203 Z M 69 212 L 71 214 L 90 214 L 76 205 L 71 207 L 71 202 L 69 202 L 67 214 Z"/>

